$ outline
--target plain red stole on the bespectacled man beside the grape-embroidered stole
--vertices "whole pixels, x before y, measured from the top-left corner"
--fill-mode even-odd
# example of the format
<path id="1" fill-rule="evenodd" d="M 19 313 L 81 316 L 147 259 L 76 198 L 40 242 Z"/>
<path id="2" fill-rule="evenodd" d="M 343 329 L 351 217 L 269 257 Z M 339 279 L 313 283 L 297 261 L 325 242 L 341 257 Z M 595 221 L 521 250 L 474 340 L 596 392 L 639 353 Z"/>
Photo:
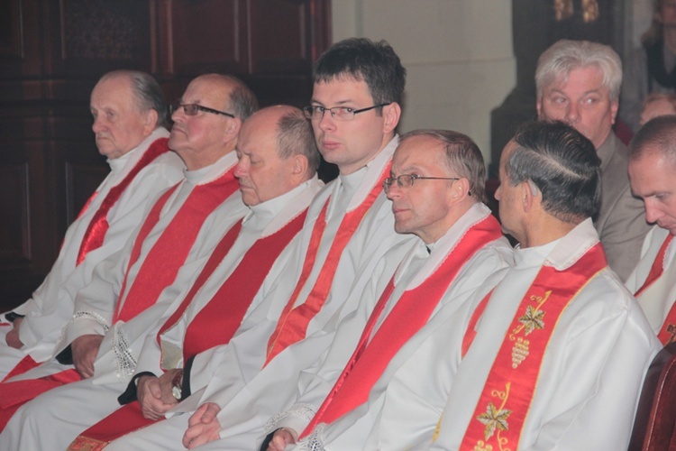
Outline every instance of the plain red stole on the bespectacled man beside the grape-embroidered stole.
<path id="1" fill-rule="evenodd" d="M 500 225 L 493 216 L 489 215 L 471 226 L 433 274 L 415 289 L 401 295 L 376 335 L 370 339 L 373 327 L 388 304 L 393 290 L 393 276 L 371 312 L 352 358 L 300 437 L 306 437 L 317 424 L 330 424 L 366 402 L 373 384 L 378 381 L 392 357 L 425 326 L 465 263 L 486 244 L 501 236 Z"/>

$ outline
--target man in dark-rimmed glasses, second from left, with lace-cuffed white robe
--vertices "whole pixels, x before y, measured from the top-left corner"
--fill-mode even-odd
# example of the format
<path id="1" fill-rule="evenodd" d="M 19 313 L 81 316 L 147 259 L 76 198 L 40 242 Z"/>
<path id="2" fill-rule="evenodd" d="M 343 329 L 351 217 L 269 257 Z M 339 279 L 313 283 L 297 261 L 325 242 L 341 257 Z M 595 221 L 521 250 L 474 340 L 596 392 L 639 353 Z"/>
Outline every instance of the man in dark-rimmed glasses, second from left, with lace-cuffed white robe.
<path id="1" fill-rule="evenodd" d="M 237 78 L 210 74 L 190 82 L 174 108 L 169 135 L 169 148 L 186 164 L 185 179 L 151 203 L 120 251 L 123 258 L 99 263 L 92 281 L 71 293 L 75 313 L 55 358 L 0 385 L 0 391 L 23 392 L 11 405 L 0 405 L 0 418 L 6 421 L 41 391 L 92 377 L 96 355 L 111 349 L 118 377 L 129 377 L 135 365 L 130 343 L 164 313 L 163 299 L 174 299 L 192 277 L 186 268 L 198 267 L 246 213 L 234 148 L 242 121 L 257 106 Z M 33 382 L 45 376 L 50 384 Z"/>

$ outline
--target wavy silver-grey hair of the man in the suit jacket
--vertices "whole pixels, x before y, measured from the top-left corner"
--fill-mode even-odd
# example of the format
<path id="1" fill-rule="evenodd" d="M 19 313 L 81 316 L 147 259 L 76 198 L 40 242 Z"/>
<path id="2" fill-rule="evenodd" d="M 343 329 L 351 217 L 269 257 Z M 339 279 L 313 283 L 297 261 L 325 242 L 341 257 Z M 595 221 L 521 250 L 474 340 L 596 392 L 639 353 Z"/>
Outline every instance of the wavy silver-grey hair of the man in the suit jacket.
<path id="1" fill-rule="evenodd" d="M 617 101 L 622 86 L 622 60 L 617 52 L 607 45 L 591 41 L 555 42 L 540 55 L 535 69 L 537 98 L 543 97 L 544 87 L 559 78 L 568 79 L 573 69 L 596 66 L 603 74 L 603 86 L 610 92 L 610 100 Z"/>

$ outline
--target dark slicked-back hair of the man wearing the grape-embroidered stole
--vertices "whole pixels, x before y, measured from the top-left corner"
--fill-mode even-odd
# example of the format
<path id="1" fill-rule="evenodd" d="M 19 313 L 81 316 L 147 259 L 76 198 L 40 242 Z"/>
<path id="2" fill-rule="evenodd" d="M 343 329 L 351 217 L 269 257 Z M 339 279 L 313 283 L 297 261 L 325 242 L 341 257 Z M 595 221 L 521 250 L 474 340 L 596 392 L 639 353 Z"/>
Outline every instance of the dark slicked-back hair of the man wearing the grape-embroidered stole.
<path id="1" fill-rule="evenodd" d="M 560 121 L 523 125 L 505 163 L 507 182 L 531 180 L 542 193 L 544 211 L 579 224 L 601 206 L 601 161 L 594 144 Z"/>

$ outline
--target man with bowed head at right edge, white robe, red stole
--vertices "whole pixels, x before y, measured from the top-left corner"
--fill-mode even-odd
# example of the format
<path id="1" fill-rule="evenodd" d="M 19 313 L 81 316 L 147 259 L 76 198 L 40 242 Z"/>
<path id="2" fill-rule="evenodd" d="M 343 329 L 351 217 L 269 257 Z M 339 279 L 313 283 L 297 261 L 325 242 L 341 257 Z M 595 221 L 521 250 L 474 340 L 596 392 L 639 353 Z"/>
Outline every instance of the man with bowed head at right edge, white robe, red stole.
<path id="1" fill-rule="evenodd" d="M 676 116 L 656 117 L 629 146 L 629 179 L 644 199 L 653 229 L 645 237 L 641 260 L 626 286 L 643 308 L 662 345 L 676 336 Z"/>

